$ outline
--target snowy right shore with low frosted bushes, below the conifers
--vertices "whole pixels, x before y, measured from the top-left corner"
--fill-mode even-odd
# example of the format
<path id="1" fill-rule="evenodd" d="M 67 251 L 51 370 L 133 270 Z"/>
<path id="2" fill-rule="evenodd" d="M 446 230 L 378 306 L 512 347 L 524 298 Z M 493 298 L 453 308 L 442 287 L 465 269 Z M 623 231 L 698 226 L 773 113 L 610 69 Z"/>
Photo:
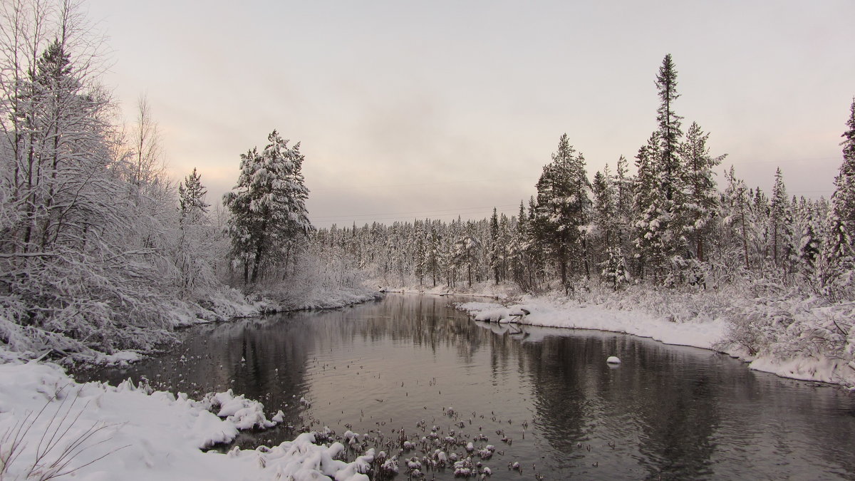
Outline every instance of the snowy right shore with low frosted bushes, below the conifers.
<path id="1" fill-rule="evenodd" d="M 834 343 L 834 319 L 840 322 L 841 318 L 851 316 L 851 307 L 840 311 L 811 306 L 809 301 L 801 305 L 774 301 L 763 305 L 728 302 L 734 300 L 728 297 L 719 299 L 722 304 L 712 311 L 716 306 L 711 302 L 716 300 L 692 299 L 690 295 L 677 302 L 661 297 L 644 300 L 644 297 L 642 294 L 634 300 L 594 304 L 563 296 L 523 296 L 519 302 L 505 305 L 467 302 L 459 304 L 458 308 L 478 321 L 608 330 L 651 337 L 666 344 L 715 349 L 749 361 L 749 367 L 758 371 L 855 387 L 855 362 L 847 360 L 846 353 L 840 352 L 839 345 Z M 666 306 L 661 302 L 669 304 Z M 691 312 L 693 302 L 703 303 L 699 305 L 702 312 L 689 314 L 686 318 L 675 316 L 675 312 L 682 315 Z M 658 306 L 657 309 L 651 308 L 653 304 Z M 669 313 L 663 315 L 661 312 Z M 777 332 L 775 319 L 780 321 L 787 316 L 793 316 L 790 328 Z M 765 333 L 753 334 L 772 337 L 764 340 L 768 342 L 768 350 L 752 352 L 749 349 L 749 346 L 756 346 L 752 342 L 760 340 L 740 337 L 743 332 L 739 325 L 741 319 L 766 326 Z"/>

